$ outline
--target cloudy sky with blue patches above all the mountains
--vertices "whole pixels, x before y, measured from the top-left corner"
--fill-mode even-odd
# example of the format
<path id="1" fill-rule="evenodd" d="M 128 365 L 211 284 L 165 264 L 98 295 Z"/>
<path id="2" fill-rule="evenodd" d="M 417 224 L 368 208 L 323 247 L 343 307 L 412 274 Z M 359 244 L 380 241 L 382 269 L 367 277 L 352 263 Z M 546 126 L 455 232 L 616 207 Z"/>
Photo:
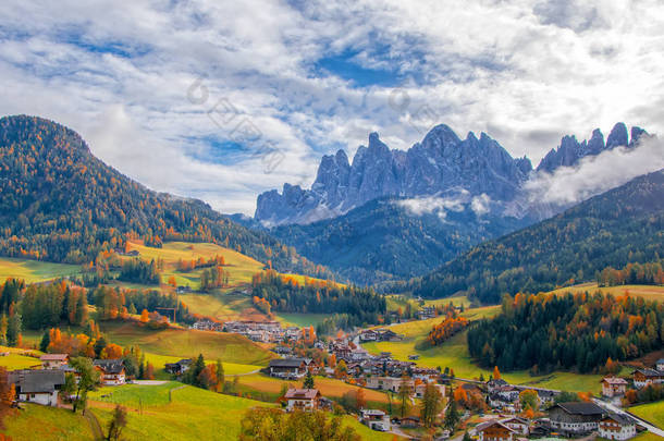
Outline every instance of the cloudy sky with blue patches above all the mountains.
<path id="1" fill-rule="evenodd" d="M 373 131 L 407 149 L 446 123 L 533 164 L 618 121 L 664 133 L 662 29 L 660 0 L 7 0 L 0 114 L 52 119 L 150 188 L 253 215 Z"/>

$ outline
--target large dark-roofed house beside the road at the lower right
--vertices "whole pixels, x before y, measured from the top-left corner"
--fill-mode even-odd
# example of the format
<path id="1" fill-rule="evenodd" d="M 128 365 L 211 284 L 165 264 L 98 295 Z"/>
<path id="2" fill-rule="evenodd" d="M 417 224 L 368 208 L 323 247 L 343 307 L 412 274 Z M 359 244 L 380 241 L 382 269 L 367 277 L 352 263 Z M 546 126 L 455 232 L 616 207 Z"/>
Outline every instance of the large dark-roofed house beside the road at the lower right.
<path id="1" fill-rule="evenodd" d="M 597 430 L 604 409 L 594 403 L 558 403 L 549 409 L 552 429 L 574 436 Z"/>

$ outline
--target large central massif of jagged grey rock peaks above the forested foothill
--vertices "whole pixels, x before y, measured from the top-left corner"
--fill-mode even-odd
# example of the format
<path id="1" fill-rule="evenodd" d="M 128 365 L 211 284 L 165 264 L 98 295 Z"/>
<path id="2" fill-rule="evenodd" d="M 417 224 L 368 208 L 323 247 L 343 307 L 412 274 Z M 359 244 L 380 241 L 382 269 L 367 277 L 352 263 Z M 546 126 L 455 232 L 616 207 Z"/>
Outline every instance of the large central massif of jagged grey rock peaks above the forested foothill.
<path id="1" fill-rule="evenodd" d="M 377 133 L 357 149 L 353 163 L 343 150 L 324 156 L 310 189 L 284 184 L 258 196 L 255 218 L 266 225 L 310 223 L 333 218 L 369 200 L 446 196 L 460 188 L 492 200 L 509 201 L 519 193 L 532 166 L 514 159 L 482 133 L 460 139 L 441 124 L 408 151 L 390 150 Z"/>

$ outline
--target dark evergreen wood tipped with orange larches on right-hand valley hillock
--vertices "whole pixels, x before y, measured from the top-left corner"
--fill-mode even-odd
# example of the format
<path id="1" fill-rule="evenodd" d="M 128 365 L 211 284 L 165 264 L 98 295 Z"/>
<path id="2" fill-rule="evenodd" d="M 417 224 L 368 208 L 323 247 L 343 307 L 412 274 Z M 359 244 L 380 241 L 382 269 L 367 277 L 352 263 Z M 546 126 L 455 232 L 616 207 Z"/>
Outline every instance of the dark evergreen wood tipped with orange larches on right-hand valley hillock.
<path id="1" fill-rule="evenodd" d="M 502 370 L 599 371 L 664 344 L 664 305 L 601 293 L 505 295 L 502 313 L 468 331 L 470 355 Z"/>

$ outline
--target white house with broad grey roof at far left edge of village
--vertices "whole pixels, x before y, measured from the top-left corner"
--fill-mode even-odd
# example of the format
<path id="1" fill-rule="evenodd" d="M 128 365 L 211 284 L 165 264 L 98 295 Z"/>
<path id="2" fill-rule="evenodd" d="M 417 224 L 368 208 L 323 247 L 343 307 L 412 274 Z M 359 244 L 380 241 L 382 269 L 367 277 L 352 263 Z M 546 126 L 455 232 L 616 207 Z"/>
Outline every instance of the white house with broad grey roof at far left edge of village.
<path id="1" fill-rule="evenodd" d="M 64 384 L 64 372 L 57 369 L 13 370 L 8 379 L 16 388 L 19 401 L 56 406 L 58 393 Z"/>

